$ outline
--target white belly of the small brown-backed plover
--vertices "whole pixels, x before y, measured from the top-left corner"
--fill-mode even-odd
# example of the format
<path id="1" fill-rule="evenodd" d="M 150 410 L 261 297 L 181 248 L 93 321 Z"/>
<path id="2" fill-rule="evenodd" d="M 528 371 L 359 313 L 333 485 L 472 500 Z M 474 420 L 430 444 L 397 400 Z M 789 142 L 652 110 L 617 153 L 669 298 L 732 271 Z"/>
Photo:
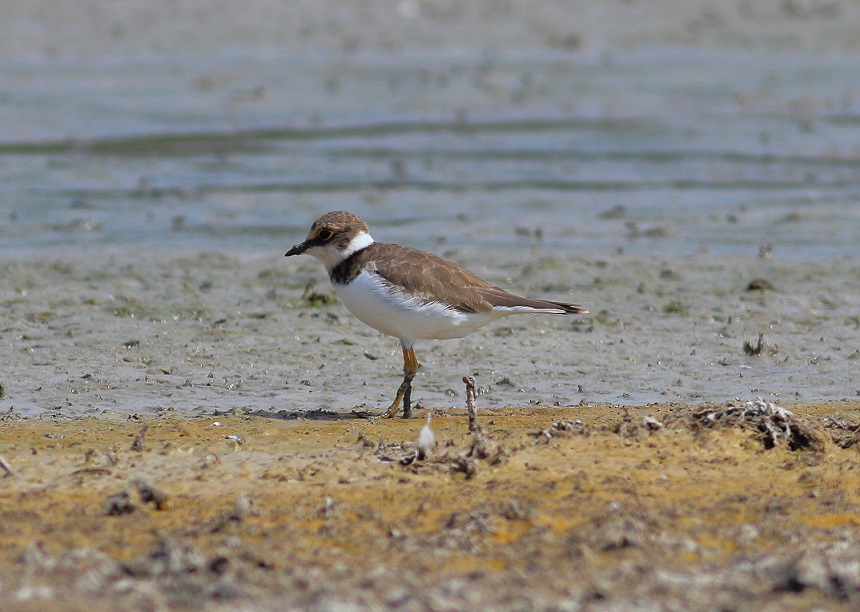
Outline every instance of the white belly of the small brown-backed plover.
<path id="1" fill-rule="evenodd" d="M 463 313 L 425 303 L 391 289 L 376 273 L 362 272 L 348 285 L 335 285 L 344 306 L 360 321 L 401 340 L 462 338 L 506 313 Z"/>

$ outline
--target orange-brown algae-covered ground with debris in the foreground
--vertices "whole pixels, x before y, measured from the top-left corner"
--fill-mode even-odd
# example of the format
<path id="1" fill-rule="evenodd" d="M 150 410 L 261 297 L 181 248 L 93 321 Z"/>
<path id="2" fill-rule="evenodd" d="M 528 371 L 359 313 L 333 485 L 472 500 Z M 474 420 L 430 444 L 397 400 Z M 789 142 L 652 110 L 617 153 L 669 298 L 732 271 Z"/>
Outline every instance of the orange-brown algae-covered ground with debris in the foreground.
<path id="1" fill-rule="evenodd" d="M 17 609 L 856 609 L 860 403 L 0 427 Z M 770 413 L 768 413 L 770 414 Z M 283 416 L 283 415 L 281 415 Z M 761 416 L 761 415 L 759 415 Z"/>

